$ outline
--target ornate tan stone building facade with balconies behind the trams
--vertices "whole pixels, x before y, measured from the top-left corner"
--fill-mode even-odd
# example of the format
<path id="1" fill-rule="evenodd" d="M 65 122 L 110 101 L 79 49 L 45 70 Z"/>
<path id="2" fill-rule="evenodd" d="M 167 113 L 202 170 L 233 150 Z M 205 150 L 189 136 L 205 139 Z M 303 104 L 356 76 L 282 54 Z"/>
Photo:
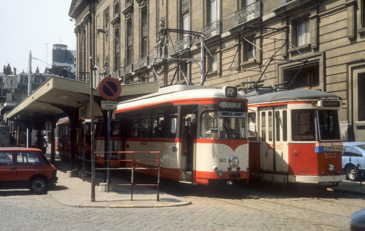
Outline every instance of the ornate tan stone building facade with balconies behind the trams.
<path id="1" fill-rule="evenodd" d="M 343 140 L 365 141 L 365 0 L 73 0 L 69 16 L 76 73 L 92 57 L 121 84 L 201 84 L 203 72 L 206 86 L 269 86 L 307 59 L 290 88 L 340 96 Z"/>

